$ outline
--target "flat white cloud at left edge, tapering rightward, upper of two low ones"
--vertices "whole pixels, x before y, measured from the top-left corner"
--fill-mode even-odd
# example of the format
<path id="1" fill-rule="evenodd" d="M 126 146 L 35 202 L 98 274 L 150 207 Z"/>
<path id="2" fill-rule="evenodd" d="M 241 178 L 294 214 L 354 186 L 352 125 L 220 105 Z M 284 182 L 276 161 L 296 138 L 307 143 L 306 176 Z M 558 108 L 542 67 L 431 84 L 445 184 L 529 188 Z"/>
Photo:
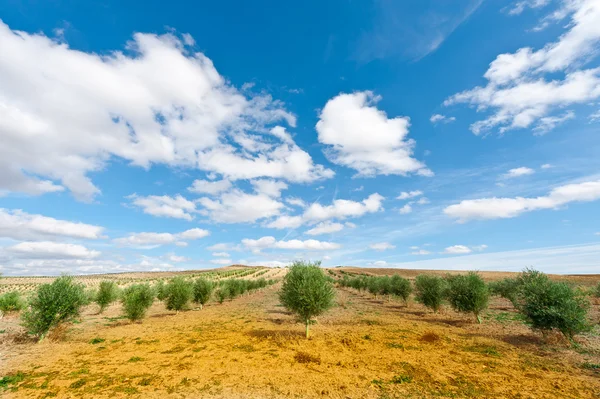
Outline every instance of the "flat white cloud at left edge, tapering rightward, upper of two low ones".
<path id="1" fill-rule="evenodd" d="M 100 226 L 29 214 L 20 209 L 0 208 L 0 237 L 15 240 L 98 239 L 103 230 Z"/>

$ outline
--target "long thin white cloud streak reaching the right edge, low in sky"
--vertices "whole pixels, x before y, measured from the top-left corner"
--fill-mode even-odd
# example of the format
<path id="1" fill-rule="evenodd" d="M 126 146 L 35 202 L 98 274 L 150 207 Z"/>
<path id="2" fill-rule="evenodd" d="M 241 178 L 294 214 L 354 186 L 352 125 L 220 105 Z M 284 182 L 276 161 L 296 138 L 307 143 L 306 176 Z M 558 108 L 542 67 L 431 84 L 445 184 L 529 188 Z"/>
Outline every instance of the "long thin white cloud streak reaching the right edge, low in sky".
<path id="1" fill-rule="evenodd" d="M 570 202 L 589 202 L 600 199 L 600 180 L 567 184 L 535 198 L 481 198 L 464 200 L 450 205 L 444 213 L 466 222 L 475 219 L 513 218 L 524 212 L 556 209 Z"/>

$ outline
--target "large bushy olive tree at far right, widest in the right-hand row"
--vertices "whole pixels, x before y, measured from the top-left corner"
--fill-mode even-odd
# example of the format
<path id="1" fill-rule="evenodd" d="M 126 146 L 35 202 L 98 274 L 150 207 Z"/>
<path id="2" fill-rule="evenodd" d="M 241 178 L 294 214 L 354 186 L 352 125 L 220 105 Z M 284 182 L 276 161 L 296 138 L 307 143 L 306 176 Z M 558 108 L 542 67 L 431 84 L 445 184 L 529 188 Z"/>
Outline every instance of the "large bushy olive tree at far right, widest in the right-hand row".
<path id="1" fill-rule="evenodd" d="M 591 329 L 587 319 L 589 302 L 582 292 L 535 270 L 525 270 L 519 284 L 518 309 L 534 330 L 545 334 L 557 329 L 572 340 Z"/>

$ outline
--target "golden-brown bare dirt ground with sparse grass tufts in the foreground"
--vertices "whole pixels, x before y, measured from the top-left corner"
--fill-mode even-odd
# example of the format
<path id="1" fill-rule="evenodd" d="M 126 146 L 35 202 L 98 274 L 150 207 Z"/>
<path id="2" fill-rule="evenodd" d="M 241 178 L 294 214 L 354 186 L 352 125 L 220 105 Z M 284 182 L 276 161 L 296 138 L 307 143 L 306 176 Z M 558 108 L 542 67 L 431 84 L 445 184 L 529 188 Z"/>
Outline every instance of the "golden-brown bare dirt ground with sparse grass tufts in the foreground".
<path id="1" fill-rule="evenodd" d="M 577 347 L 544 342 L 504 300 L 478 325 L 447 309 L 338 289 L 337 306 L 306 340 L 279 305 L 279 286 L 179 314 L 156 302 L 142 323 L 120 318 L 118 304 L 103 315 L 90 306 L 81 323 L 39 344 L 16 339 L 9 315 L 0 320 L 10 330 L 0 334 L 0 377 L 19 377 L 0 396 L 600 397 L 600 373 L 589 367 L 600 363 L 598 334 Z M 597 322 L 597 304 L 592 316 Z"/>

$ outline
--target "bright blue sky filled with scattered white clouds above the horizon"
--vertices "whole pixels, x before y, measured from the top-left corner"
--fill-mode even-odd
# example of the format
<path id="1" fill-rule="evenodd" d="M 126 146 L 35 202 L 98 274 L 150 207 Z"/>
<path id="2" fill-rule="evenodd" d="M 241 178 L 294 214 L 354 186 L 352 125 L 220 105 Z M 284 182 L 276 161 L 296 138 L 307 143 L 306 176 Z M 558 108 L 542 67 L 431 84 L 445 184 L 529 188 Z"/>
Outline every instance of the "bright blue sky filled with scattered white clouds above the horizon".
<path id="1" fill-rule="evenodd" d="M 0 0 L 0 272 L 597 273 L 594 0 Z"/>

